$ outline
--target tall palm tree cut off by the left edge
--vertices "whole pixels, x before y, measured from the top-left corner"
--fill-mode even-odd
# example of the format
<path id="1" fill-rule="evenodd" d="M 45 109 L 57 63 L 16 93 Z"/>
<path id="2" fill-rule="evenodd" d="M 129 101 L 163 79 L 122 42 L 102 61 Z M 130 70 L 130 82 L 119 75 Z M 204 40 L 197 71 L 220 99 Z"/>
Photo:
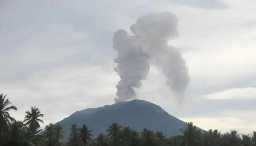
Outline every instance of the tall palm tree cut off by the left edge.
<path id="1" fill-rule="evenodd" d="M 3 94 L 0 94 L 0 132 L 3 132 L 4 127 L 7 127 L 8 124 L 15 121 L 15 119 L 10 116 L 9 111 L 17 111 L 17 107 L 14 105 L 9 106 L 12 103 L 8 99 L 5 100 L 5 97 L 6 95 L 3 96 Z"/>

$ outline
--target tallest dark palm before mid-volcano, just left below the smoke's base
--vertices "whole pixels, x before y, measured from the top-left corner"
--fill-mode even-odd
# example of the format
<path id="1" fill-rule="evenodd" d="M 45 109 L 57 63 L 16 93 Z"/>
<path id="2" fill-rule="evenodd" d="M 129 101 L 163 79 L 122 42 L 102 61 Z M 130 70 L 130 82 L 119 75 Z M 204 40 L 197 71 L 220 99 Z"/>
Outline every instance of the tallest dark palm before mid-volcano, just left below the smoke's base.
<path id="1" fill-rule="evenodd" d="M 113 145 L 116 144 L 116 137 L 119 134 L 121 127 L 122 126 L 118 123 L 112 123 L 107 129 L 107 132 L 109 133 L 107 136 L 109 137 L 109 140 L 113 143 Z"/>

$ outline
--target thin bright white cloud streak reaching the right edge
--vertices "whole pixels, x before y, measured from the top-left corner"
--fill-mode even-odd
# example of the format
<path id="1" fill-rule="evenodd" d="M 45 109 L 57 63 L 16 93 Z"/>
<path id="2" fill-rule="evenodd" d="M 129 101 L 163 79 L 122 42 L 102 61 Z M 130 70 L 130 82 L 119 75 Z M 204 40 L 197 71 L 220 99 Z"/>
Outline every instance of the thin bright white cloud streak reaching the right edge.
<path id="1" fill-rule="evenodd" d="M 222 100 L 222 99 L 254 99 L 256 98 L 256 88 L 235 88 L 227 89 L 225 91 L 211 93 L 210 95 L 203 95 L 202 97 L 210 100 Z"/>

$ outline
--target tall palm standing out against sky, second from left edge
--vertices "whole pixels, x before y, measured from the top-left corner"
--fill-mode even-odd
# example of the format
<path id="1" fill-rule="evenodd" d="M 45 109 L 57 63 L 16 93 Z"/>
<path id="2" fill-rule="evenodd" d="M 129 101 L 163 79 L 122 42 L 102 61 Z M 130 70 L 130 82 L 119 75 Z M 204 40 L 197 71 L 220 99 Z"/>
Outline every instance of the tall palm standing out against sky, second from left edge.
<path id="1" fill-rule="evenodd" d="M 26 111 L 25 112 L 25 119 L 23 122 L 26 122 L 26 125 L 29 126 L 29 129 L 34 133 L 34 134 L 38 134 L 39 132 L 41 132 L 42 130 L 39 128 L 41 128 L 39 122 L 44 124 L 44 121 L 39 119 L 40 117 L 44 117 L 43 114 L 41 114 L 41 112 L 38 110 L 37 107 L 31 107 L 30 111 Z"/>

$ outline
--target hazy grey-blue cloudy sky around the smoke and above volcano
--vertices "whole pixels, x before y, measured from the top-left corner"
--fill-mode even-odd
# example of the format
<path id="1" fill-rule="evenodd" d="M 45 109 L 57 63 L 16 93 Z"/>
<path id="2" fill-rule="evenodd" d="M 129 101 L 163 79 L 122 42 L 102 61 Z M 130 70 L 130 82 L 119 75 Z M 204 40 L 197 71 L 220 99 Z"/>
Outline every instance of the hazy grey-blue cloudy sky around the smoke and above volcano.
<path id="1" fill-rule="evenodd" d="M 37 106 L 45 124 L 113 104 L 115 31 L 149 12 L 172 12 L 191 82 L 178 105 L 151 66 L 137 98 L 205 130 L 256 130 L 255 0 L 0 0 L 0 93 L 23 120 Z M 44 125 L 42 125 L 44 127 Z"/>

